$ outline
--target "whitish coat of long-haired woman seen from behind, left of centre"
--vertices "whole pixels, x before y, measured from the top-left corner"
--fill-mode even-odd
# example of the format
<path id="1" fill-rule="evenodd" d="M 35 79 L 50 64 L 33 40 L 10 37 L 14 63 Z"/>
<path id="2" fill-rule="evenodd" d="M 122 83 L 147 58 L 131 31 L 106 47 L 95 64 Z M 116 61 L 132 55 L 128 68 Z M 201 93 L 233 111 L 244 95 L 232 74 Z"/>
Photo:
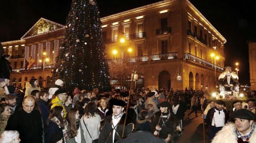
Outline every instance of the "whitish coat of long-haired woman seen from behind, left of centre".
<path id="1" fill-rule="evenodd" d="M 100 127 L 100 121 L 101 117 L 95 112 L 94 117 L 81 117 L 81 125 L 82 129 L 84 130 L 84 138 L 86 143 L 92 143 L 92 140 L 98 139 L 99 138 L 99 127 Z M 86 124 L 86 127 L 91 135 L 89 135 L 88 131 L 86 130 L 86 127 L 84 125 Z M 92 138 L 92 139 L 91 139 Z"/>

